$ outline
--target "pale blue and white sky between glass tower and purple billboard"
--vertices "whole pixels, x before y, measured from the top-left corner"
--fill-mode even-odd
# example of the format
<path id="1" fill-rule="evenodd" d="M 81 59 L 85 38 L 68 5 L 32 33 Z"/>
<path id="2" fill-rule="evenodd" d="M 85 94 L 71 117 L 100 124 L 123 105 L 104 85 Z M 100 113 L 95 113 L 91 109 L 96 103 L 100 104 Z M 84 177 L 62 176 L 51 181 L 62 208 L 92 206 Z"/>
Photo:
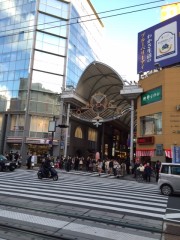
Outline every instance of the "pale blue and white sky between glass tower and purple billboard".
<path id="1" fill-rule="evenodd" d="M 137 74 L 138 33 L 160 23 L 160 6 L 174 2 L 178 1 L 91 0 L 91 3 L 93 4 L 97 13 L 126 8 L 99 14 L 100 18 L 110 15 L 122 14 L 119 16 L 102 18 L 101 21 L 104 24 L 104 46 L 106 49 L 105 63 L 116 70 L 124 80 L 137 81 L 139 78 Z M 140 4 L 145 5 L 130 7 Z M 156 6 L 157 8 L 154 8 Z M 152 9 L 127 13 L 147 8 Z"/>

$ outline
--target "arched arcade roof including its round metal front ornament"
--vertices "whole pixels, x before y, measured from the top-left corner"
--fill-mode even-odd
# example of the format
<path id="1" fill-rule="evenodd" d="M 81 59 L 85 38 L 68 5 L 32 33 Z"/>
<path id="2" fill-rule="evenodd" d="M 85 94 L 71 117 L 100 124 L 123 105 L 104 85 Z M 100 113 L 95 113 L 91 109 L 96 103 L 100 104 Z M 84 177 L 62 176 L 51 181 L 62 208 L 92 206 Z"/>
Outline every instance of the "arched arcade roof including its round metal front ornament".
<path id="1" fill-rule="evenodd" d="M 77 106 L 71 113 L 76 118 L 87 122 L 118 120 L 130 128 L 131 106 L 129 100 L 120 94 L 123 86 L 124 80 L 114 69 L 94 61 L 84 70 L 76 89 L 71 93 L 66 90 L 62 97 L 66 101 L 71 98 Z M 78 99 L 81 104 L 77 104 Z"/>

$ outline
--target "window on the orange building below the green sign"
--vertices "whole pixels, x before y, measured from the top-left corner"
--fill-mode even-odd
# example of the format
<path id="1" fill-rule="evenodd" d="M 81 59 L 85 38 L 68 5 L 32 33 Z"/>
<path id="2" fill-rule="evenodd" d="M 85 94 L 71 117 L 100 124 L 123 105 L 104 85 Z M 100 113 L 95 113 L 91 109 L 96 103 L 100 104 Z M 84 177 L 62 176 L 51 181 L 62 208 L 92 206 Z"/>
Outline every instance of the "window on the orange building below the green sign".
<path id="1" fill-rule="evenodd" d="M 162 113 L 140 118 L 141 136 L 162 134 Z"/>

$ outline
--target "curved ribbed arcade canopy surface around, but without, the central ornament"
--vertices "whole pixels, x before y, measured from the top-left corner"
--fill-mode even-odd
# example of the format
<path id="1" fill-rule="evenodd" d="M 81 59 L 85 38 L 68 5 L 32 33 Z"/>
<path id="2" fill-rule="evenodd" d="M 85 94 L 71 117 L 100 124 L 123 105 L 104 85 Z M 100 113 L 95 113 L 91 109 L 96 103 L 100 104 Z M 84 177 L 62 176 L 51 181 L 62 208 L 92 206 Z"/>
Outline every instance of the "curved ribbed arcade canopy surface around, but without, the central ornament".
<path id="1" fill-rule="evenodd" d="M 118 119 L 119 123 L 130 128 L 130 102 L 120 94 L 124 85 L 122 77 L 114 69 L 102 62 L 94 61 L 81 75 L 75 93 L 87 103 L 90 103 L 92 96 L 97 93 L 104 94 L 111 104 L 100 114 L 103 122 Z M 93 110 L 86 106 L 82 109 L 78 115 L 73 115 L 91 122 L 96 116 Z"/>

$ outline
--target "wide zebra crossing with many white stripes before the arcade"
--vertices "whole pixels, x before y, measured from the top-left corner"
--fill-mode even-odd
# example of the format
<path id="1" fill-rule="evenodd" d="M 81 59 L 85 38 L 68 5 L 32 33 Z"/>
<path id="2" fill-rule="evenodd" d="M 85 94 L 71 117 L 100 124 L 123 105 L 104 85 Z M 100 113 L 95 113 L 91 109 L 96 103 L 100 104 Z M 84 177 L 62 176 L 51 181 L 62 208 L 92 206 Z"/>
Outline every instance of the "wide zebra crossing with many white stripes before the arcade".
<path id="1" fill-rule="evenodd" d="M 36 171 L 17 169 L 0 172 L 0 194 L 48 200 L 54 203 L 105 209 L 163 219 L 168 198 L 161 196 L 157 185 L 135 181 L 90 178 L 59 174 L 59 180 L 39 180 Z"/>

